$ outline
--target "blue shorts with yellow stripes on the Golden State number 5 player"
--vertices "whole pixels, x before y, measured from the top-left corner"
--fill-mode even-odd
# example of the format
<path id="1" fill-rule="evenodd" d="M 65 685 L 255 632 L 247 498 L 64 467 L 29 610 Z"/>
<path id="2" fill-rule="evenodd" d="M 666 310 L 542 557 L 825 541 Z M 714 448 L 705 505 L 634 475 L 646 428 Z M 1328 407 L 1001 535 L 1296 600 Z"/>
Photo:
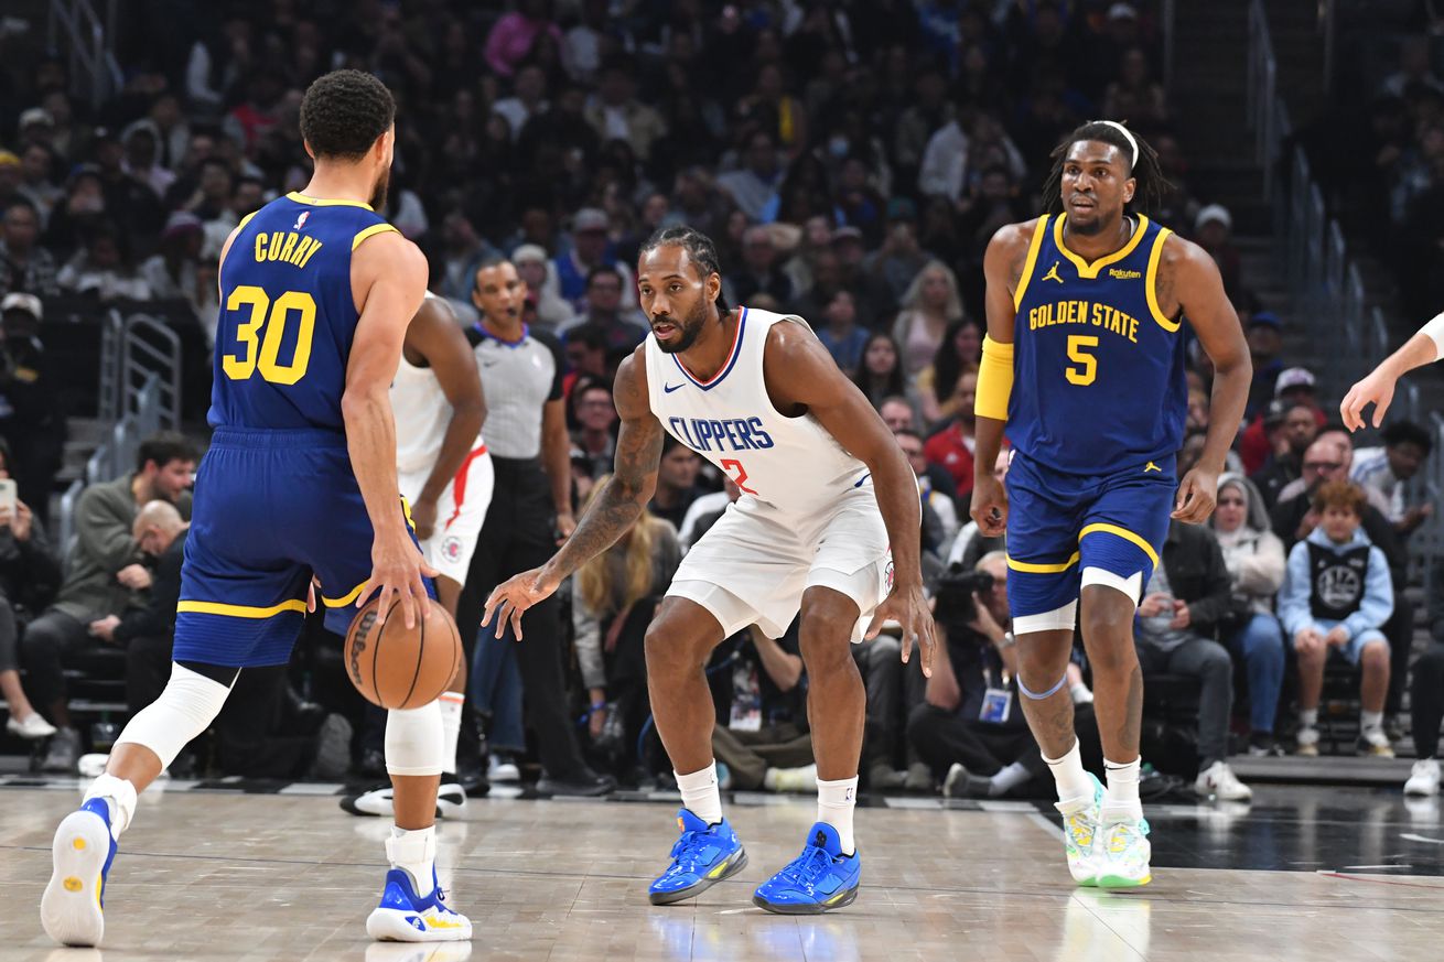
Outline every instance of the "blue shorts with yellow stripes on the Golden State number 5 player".
<path id="1" fill-rule="evenodd" d="M 1077 601 L 1086 568 L 1122 579 L 1142 573 L 1148 585 L 1168 536 L 1175 472 L 1170 456 L 1106 475 L 1064 474 L 1017 452 L 1004 481 L 1012 617 Z"/>

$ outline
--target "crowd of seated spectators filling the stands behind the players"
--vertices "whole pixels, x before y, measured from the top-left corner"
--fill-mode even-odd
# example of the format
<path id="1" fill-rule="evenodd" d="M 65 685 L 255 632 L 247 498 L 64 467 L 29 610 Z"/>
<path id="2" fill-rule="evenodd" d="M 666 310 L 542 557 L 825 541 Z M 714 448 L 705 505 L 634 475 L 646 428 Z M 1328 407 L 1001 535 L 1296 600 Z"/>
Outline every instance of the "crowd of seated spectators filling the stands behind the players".
<path id="1" fill-rule="evenodd" d="M 0 436 L 16 462 L 0 456 L 22 480 L 22 508 L 0 516 L 0 599 L 19 614 L 7 628 L 0 610 L 0 689 L 12 732 L 49 738 L 40 764 L 66 770 L 87 741 L 61 672 L 77 651 L 123 649 L 131 688 L 153 688 L 169 631 L 156 604 L 183 543 L 195 461 L 183 439 L 153 441 L 134 474 L 87 491 L 75 546 L 45 540 L 36 516 L 64 438 L 45 303 L 163 300 L 173 324 L 208 342 L 221 244 L 241 217 L 306 183 L 297 105 L 334 66 L 373 71 L 396 92 L 383 212 L 427 253 L 432 289 L 472 324 L 478 267 L 507 256 L 527 283 L 527 324 L 563 342 L 575 507 L 609 469 L 611 376 L 647 334 L 632 266 L 653 230 L 686 222 L 710 234 L 729 303 L 809 319 L 907 452 L 930 584 L 953 591 L 931 679 L 898 663 L 895 638 L 858 646 L 865 777 L 956 796 L 1045 789 L 1017 703 L 1006 546 L 967 521 L 983 250 L 998 227 L 1040 209 L 1064 133 L 1090 117 L 1128 120 L 1171 178 L 1157 215 L 1217 261 L 1256 371 L 1219 511 L 1206 527 L 1174 526 L 1139 607 L 1145 679 L 1183 677 L 1199 695 L 1183 732 L 1190 751 L 1149 757 L 1197 773 L 1201 794 L 1246 799 L 1230 754 L 1318 751 L 1333 649 L 1362 670 L 1360 750 L 1392 751 L 1412 643 L 1406 539 L 1431 510 L 1409 500 L 1408 481 L 1431 438 L 1395 420 L 1383 446 L 1354 451 L 1326 415 L 1333 399 L 1288 365 L 1279 318 L 1248 290 L 1229 211 L 1188 185 L 1180 118 L 1155 79 L 1154 4 L 520 0 L 503 10 L 430 0 L 342 14 L 271 0 L 198 4 L 182 23 L 160 16 L 165 4 L 140 6 L 149 42 L 127 56 L 124 88 L 107 103 L 72 95 L 65 64 L 33 43 L 0 85 Z M 1427 64 L 1405 69 L 1405 103 L 1425 113 L 1444 103 Z M 1197 345 L 1188 357 L 1180 474 L 1209 425 L 1212 371 Z M 1006 467 L 1005 455 L 995 471 Z M 738 494 L 669 439 L 650 511 L 563 592 L 572 689 L 556 696 L 576 706 L 589 761 L 624 781 L 667 768 L 648 721 L 645 625 L 680 556 Z M 49 562 L 26 560 L 38 556 Z M 334 669 L 332 643 L 315 634 L 302 646 L 305 672 L 256 682 L 253 701 L 274 722 L 267 737 L 309 719 L 290 750 L 267 748 L 284 774 L 331 754 L 341 725 L 328 711 L 355 721 L 354 699 L 306 701 L 328 701 L 315 679 Z M 1080 654 L 1069 688 L 1084 727 L 1086 672 Z M 729 783 L 810 787 L 796 631 L 744 631 L 709 677 Z M 527 758 L 526 732 L 508 721 L 520 716 L 517 685 L 488 677 L 481 705 L 492 774 L 508 779 Z M 228 757 L 244 767 L 257 751 Z"/>

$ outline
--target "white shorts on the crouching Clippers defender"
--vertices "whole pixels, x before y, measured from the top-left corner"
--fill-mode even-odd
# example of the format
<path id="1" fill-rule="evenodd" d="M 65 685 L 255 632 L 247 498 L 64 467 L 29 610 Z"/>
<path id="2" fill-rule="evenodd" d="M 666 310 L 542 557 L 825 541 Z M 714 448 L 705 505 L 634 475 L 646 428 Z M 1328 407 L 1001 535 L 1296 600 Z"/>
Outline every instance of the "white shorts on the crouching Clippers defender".
<path id="1" fill-rule="evenodd" d="M 778 638 L 813 585 L 858 602 L 852 640 L 861 641 L 892 589 L 892 552 L 871 484 L 807 517 L 744 495 L 692 546 L 667 594 L 706 608 L 723 636 L 755 624 Z"/>

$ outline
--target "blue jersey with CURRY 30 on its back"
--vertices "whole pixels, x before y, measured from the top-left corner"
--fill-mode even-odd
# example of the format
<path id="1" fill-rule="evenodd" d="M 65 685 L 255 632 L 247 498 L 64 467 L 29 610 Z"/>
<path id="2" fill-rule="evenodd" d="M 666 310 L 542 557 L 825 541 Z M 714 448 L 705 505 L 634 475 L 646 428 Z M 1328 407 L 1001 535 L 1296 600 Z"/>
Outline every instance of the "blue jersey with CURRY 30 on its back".
<path id="1" fill-rule="evenodd" d="M 303 194 L 241 221 L 221 264 L 212 428 L 342 430 L 351 251 L 393 230 L 365 204 Z"/>

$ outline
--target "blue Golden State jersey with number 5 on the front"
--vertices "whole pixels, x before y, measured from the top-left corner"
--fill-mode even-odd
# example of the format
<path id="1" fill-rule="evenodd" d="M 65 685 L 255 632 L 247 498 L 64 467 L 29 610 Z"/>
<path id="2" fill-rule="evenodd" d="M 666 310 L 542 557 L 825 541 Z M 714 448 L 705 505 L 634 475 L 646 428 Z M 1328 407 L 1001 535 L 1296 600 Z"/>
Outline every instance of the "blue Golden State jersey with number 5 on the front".
<path id="1" fill-rule="evenodd" d="M 1122 248 L 1089 263 L 1064 246 L 1066 218 L 1038 218 L 1014 295 L 1008 439 L 1067 474 L 1171 456 L 1188 409 L 1183 322 L 1154 289 L 1171 231 L 1139 215 Z"/>

